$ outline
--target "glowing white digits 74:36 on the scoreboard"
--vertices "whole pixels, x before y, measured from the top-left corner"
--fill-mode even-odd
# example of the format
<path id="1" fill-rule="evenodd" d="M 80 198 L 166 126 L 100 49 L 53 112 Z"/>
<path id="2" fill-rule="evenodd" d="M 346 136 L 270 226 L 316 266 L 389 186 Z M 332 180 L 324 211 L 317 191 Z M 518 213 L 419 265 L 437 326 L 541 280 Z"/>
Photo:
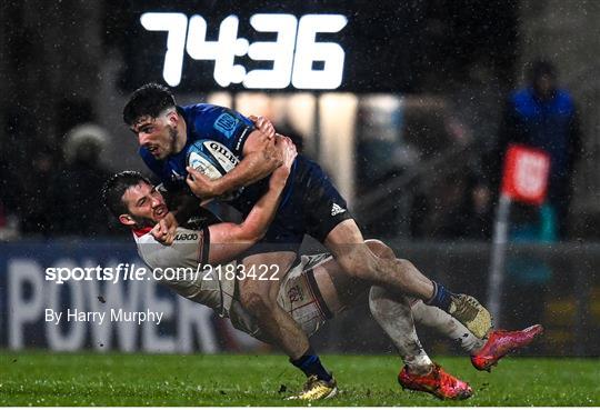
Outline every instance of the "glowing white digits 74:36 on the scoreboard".
<path id="1" fill-rule="evenodd" d="M 346 52 L 332 41 L 319 41 L 319 33 L 338 33 L 347 24 L 342 14 L 257 13 L 250 27 L 257 33 L 273 33 L 273 41 L 253 41 L 239 36 L 240 18 L 230 14 L 219 22 L 218 37 L 208 40 L 207 19 L 178 12 L 146 12 L 140 17 L 148 31 L 163 31 L 164 82 L 181 82 L 183 61 L 212 61 L 214 82 L 222 88 L 242 84 L 247 89 L 334 90 L 342 83 Z M 156 46 L 154 46 L 156 47 Z M 237 62 L 247 57 L 268 62 L 268 69 L 248 69 Z"/>

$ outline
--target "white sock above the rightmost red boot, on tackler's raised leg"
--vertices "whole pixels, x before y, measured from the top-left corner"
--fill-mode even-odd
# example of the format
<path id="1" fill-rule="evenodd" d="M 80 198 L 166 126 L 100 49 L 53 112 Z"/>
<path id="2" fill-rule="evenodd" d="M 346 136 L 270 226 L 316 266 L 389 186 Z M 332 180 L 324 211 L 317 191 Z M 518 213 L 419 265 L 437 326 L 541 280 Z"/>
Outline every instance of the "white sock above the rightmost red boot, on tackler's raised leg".
<path id="1" fill-rule="evenodd" d="M 411 300 L 411 310 L 414 321 L 436 329 L 441 334 L 457 341 L 468 353 L 473 353 L 484 344 L 483 339 L 478 339 L 457 319 L 433 306 L 423 303 L 422 300 Z"/>

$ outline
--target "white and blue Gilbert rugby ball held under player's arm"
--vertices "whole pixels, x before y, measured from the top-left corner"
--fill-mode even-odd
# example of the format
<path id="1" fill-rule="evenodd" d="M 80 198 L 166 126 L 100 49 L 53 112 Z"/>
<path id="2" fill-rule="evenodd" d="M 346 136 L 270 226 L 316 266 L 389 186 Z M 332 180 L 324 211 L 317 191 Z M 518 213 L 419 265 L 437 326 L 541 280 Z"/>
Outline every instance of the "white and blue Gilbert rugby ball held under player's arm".
<path id="1" fill-rule="evenodd" d="M 226 146 L 213 140 L 198 140 L 188 148 L 187 163 L 210 179 L 221 178 L 240 160 Z"/>

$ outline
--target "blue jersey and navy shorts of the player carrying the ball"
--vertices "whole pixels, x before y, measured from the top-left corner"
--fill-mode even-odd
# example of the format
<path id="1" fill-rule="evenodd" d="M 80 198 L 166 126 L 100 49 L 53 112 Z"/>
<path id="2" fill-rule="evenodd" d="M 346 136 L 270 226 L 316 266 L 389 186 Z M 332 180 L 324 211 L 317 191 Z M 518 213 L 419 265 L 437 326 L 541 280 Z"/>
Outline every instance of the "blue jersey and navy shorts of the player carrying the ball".
<path id="1" fill-rule="evenodd" d="M 181 152 L 160 161 L 140 148 L 143 161 L 169 190 L 188 189 L 186 183 L 186 153 L 190 144 L 210 139 L 224 144 L 239 159 L 243 144 L 254 130 L 253 123 L 230 109 L 200 103 L 178 108 L 186 120 L 188 139 Z M 244 217 L 269 188 L 269 178 L 246 187 L 229 203 Z M 321 168 L 299 154 L 293 163 L 276 218 L 261 242 L 279 244 L 279 250 L 297 251 L 304 233 L 323 241 L 340 221 L 351 218 L 347 203 Z M 260 247 L 257 246 L 257 253 Z M 268 248 L 268 249 L 272 249 Z M 254 250 L 252 250 L 254 251 Z"/>

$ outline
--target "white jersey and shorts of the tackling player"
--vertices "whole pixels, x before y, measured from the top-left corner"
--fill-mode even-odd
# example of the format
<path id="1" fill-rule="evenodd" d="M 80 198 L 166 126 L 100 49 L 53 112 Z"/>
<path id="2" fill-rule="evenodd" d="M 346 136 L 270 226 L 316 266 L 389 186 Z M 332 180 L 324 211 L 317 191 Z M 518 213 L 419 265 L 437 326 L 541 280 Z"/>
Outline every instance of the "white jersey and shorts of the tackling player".
<path id="1" fill-rule="evenodd" d="M 171 246 L 158 242 L 150 231 L 151 228 L 133 231 L 138 253 L 150 269 L 163 271 L 167 268 L 188 268 L 190 272 L 193 272 L 193 274 L 174 280 L 162 279 L 160 283 L 191 301 L 213 309 L 221 317 L 229 318 L 236 329 L 267 341 L 253 316 L 243 309 L 239 298 L 234 296 L 236 279 L 227 280 L 222 271 L 219 273 L 216 267 L 209 267 L 210 233 L 208 228 L 191 230 L 179 227 Z M 312 277 L 312 268 L 328 258 L 330 258 L 328 254 L 303 256 L 300 262 L 281 278 L 277 301 L 309 336 L 313 334 L 328 317 L 331 317 Z M 208 269 L 202 270 L 204 267 Z M 306 271 L 312 278 L 313 284 L 303 274 Z M 316 297 L 316 293 L 319 293 L 319 297 Z M 324 310 L 328 313 L 324 313 Z"/>

